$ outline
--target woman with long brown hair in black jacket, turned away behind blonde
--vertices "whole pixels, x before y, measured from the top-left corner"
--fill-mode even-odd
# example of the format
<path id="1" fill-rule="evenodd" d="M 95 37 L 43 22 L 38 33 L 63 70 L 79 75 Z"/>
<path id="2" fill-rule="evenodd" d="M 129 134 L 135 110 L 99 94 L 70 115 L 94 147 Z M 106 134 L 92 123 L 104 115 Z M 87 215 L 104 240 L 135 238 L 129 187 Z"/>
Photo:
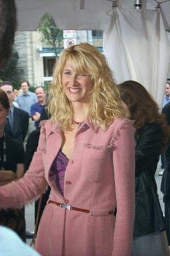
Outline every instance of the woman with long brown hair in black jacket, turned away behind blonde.
<path id="1" fill-rule="evenodd" d="M 165 255 L 159 248 L 160 231 L 165 230 L 165 225 L 154 175 L 167 143 L 168 128 L 157 104 L 141 84 L 126 81 L 118 88 L 128 117 L 135 121 L 133 255 Z"/>

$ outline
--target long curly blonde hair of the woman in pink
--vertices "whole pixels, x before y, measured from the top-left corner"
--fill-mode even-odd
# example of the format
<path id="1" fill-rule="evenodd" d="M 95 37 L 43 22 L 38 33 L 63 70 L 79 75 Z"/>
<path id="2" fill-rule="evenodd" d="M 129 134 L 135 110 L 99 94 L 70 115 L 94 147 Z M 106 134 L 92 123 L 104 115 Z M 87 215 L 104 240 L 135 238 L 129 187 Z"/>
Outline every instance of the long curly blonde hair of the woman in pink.
<path id="1" fill-rule="evenodd" d="M 77 73 L 91 77 L 92 93 L 86 107 L 86 115 L 91 123 L 106 130 L 115 117 L 124 117 L 119 91 L 106 58 L 93 45 L 81 43 L 64 49 L 54 67 L 48 103 L 52 123 L 57 122 L 63 130 L 68 130 L 73 120 L 72 105 L 62 86 L 66 62 Z"/>

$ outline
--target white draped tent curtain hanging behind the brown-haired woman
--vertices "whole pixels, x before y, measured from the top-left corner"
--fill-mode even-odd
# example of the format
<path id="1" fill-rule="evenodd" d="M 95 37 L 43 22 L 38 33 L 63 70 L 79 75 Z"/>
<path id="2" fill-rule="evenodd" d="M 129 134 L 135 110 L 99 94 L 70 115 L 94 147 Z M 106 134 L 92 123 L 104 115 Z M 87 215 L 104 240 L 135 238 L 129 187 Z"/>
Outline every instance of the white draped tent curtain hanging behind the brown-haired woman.
<path id="1" fill-rule="evenodd" d="M 104 29 L 104 53 L 117 83 L 138 81 L 161 107 L 170 45 L 160 11 L 115 8 Z"/>

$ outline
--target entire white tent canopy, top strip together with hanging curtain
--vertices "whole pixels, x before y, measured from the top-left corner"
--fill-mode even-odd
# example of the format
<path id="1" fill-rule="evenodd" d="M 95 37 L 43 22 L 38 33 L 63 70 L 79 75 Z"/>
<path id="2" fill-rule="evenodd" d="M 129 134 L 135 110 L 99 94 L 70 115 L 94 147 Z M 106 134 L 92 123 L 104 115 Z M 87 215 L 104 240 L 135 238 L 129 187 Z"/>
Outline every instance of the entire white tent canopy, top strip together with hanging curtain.
<path id="1" fill-rule="evenodd" d="M 142 10 L 134 10 L 135 0 L 15 1 L 18 31 L 37 30 L 45 13 L 53 16 L 60 29 L 104 30 L 104 53 L 118 83 L 139 81 L 161 107 L 170 62 L 165 32 L 170 24 L 169 0 L 141 0 Z M 155 11 L 157 1 L 161 12 Z M 118 7 L 112 8 L 112 4 Z"/>

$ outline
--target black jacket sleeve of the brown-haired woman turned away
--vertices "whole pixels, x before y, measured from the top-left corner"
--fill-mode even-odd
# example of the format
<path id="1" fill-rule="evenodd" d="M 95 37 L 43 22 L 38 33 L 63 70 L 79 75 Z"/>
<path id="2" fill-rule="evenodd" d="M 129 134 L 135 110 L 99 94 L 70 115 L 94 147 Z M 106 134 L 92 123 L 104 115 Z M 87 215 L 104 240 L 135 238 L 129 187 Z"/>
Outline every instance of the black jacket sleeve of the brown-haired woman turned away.
<path id="1" fill-rule="evenodd" d="M 162 147 L 160 125 L 148 124 L 143 129 L 135 147 L 135 175 L 139 175 L 153 158 L 159 157 Z"/>

